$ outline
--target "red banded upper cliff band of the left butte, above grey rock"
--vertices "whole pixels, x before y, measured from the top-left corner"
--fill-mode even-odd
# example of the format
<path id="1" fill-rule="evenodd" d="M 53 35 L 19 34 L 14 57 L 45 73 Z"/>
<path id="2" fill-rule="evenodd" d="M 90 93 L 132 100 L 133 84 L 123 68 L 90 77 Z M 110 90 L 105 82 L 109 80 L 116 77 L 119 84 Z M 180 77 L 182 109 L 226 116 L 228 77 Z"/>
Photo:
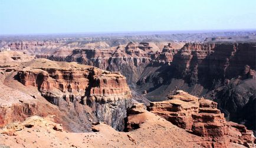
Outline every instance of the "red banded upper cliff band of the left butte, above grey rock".
<path id="1" fill-rule="evenodd" d="M 84 95 L 88 90 L 88 96 L 96 101 L 130 98 L 124 76 L 119 72 L 104 72 L 91 66 L 70 69 L 25 68 L 18 75 L 22 84 L 37 86 L 42 93 L 60 90 L 71 95 Z"/>

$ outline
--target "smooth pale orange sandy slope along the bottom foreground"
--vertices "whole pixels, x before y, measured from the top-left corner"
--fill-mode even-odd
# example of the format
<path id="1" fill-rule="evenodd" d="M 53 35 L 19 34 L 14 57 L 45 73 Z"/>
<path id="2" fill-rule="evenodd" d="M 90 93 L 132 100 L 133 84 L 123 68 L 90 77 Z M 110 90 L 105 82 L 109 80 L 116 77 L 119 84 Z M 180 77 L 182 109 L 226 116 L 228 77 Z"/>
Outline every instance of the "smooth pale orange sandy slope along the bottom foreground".
<path id="1" fill-rule="evenodd" d="M 212 141 L 209 137 L 196 136 L 168 122 L 161 116 L 148 112 L 140 103 L 128 111 L 127 127 L 130 132 L 117 132 L 103 122 L 94 123 L 89 133 L 70 133 L 63 126 L 53 122 L 54 116 L 32 116 L 21 123 L 12 123 L 0 130 L 0 146 L 11 147 L 245 147 L 251 146 L 245 139 L 232 137 L 238 141 Z M 229 127 L 233 134 L 241 134 Z M 136 128 L 134 128 L 136 127 Z M 246 130 L 246 129 L 245 129 Z M 12 136 L 15 135 L 15 136 Z M 248 135 L 249 137 L 249 135 Z M 229 138 L 229 137 L 225 137 Z M 253 138 L 253 137 L 251 137 Z M 221 144 L 221 145 L 220 145 Z"/>

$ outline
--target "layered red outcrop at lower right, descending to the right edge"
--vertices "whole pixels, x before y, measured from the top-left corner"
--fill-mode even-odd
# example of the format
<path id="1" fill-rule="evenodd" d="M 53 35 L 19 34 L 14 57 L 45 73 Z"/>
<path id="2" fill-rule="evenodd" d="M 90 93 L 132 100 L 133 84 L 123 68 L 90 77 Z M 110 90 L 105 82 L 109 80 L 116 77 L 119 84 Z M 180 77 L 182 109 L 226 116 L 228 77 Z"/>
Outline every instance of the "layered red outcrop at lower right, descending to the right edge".
<path id="1" fill-rule="evenodd" d="M 182 90 L 169 96 L 169 99 L 151 102 L 148 109 L 193 134 L 209 137 L 214 147 L 228 147 L 230 141 L 245 146 L 254 144 L 252 132 L 243 125 L 226 122 L 224 114 L 217 109 L 216 102 L 189 95 Z"/>

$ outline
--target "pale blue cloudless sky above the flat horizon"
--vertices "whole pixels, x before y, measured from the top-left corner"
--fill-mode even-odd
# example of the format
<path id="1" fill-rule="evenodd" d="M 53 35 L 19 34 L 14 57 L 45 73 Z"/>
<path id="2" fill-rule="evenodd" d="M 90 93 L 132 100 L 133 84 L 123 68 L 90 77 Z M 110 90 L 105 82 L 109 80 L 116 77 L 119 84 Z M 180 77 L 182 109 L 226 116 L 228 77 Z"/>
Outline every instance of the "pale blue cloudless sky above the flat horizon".
<path id="1" fill-rule="evenodd" d="M 0 35 L 236 29 L 255 0 L 0 0 Z"/>

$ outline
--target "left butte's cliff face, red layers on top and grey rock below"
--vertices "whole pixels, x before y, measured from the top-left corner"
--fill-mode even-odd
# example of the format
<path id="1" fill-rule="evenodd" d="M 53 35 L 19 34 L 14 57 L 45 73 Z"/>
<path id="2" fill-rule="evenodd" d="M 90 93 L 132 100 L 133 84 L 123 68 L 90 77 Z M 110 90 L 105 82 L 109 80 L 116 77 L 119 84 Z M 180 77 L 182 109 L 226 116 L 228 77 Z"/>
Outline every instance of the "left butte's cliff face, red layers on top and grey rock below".
<path id="1" fill-rule="evenodd" d="M 47 63 L 47 60 L 38 60 Z M 124 76 L 92 66 L 58 68 L 62 63 L 51 64 L 55 65 L 19 70 L 19 82 L 36 86 L 45 99 L 60 109 L 77 112 L 80 120 L 104 121 L 117 130 L 123 130 L 131 98 Z M 84 105 L 90 106 L 91 112 L 86 111 Z M 84 112 L 88 115 L 84 116 Z"/>

